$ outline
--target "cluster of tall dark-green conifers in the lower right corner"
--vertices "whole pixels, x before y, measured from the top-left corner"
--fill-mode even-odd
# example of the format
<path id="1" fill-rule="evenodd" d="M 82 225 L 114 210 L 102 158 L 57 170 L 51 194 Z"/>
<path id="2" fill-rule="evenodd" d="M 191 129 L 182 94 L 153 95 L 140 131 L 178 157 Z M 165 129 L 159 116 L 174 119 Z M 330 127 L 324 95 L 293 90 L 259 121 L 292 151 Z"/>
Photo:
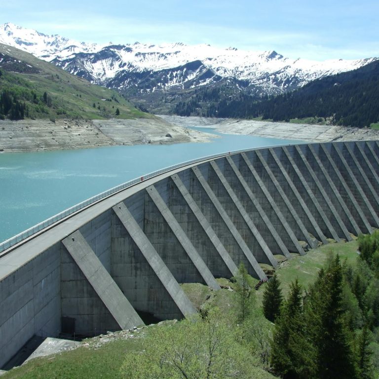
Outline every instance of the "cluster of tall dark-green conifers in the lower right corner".
<path id="1" fill-rule="evenodd" d="M 352 267 L 337 256 L 304 291 L 296 280 L 283 300 L 278 279 L 264 294 L 275 322 L 270 363 L 289 379 L 374 378 L 371 342 L 379 337 L 379 232 L 359 238 Z"/>

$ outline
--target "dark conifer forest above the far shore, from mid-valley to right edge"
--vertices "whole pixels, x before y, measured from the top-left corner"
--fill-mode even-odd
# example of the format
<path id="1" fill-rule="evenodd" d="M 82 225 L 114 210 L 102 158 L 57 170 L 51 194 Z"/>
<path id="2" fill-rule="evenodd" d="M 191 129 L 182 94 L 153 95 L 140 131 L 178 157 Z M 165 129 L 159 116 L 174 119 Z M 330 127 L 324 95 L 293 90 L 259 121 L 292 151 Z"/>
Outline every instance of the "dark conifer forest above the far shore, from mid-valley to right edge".
<path id="1" fill-rule="evenodd" d="M 336 125 L 365 127 L 379 121 L 379 62 L 357 70 L 311 81 L 304 87 L 278 96 L 221 96 L 224 89 L 200 90 L 178 103 L 178 115 L 235 117 L 290 121 L 316 117 Z M 219 95 L 218 97 L 215 95 Z M 211 96 L 211 97 L 210 97 Z"/>

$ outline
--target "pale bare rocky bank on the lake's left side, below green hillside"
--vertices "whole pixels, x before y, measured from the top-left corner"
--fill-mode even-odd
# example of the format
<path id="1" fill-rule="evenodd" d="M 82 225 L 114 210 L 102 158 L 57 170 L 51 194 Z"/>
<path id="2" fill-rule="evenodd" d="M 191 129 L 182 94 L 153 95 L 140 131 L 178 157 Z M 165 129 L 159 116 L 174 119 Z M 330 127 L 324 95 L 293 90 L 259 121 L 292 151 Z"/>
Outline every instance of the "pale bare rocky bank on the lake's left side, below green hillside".
<path id="1" fill-rule="evenodd" d="M 209 142 L 217 137 L 151 119 L 0 120 L 0 152 L 36 152 L 100 146 Z"/>

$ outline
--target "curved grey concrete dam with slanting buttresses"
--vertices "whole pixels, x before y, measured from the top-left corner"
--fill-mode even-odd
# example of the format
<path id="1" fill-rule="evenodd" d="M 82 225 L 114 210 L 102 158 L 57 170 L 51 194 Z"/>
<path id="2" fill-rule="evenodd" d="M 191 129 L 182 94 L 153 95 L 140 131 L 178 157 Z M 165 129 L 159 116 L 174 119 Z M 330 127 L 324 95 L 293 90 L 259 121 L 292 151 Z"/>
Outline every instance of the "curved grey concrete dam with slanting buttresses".
<path id="1" fill-rule="evenodd" d="M 378 194 L 375 141 L 230 152 L 140 178 L 0 253 L 0 367 L 33 336 L 182 318 L 196 310 L 180 283 L 218 290 L 240 262 L 265 279 L 262 264 L 371 233 Z"/>

